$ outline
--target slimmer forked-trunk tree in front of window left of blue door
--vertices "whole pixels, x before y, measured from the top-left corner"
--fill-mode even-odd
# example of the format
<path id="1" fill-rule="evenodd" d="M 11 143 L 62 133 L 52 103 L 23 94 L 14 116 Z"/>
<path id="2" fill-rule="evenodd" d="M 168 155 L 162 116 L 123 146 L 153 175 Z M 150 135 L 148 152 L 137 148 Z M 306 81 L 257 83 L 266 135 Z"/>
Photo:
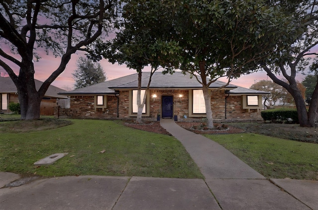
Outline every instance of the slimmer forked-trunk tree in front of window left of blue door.
<path id="1" fill-rule="evenodd" d="M 133 2 L 135 3 L 135 2 Z M 116 37 L 109 41 L 99 40 L 95 45 L 95 51 L 90 54 L 93 59 L 102 57 L 111 63 L 126 65 L 129 69 L 138 73 L 137 89 L 137 118 L 136 123 L 142 122 L 142 111 L 146 103 L 146 98 L 151 83 L 153 73 L 160 67 L 170 66 L 167 61 L 170 54 L 162 54 L 158 40 L 162 38 L 161 31 L 163 24 L 147 26 L 143 21 L 143 12 L 152 9 L 147 2 L 138 4 L 138 10 L 131 12 L 131 5 L 125 4 L 122 10 L 122 21 L 118 25 Z M 165 59 L 165 60 L 164 60 Z M 164 60 L 164 62 L 162 62 Z M 151 74 L 148 81 L 147 90 L 141 98 L 142 72 L 145 67 L 151 66 Z"/>

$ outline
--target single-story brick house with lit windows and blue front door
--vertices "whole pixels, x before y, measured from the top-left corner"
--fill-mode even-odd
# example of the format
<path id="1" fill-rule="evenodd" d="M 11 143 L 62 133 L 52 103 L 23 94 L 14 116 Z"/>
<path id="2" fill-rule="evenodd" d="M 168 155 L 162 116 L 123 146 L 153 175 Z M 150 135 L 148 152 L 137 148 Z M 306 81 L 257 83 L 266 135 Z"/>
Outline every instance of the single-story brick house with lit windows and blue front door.
<path id="1" fill-rule="evenodd" d="M 142 74 L 142 95 L 146 91 L 150 72 Z M 210 89 L 224 85 L 216 81 Z M 138 74 L 101 82 L 73 91 L 60 92 L 68 96 L 70 108 L 59 106 L 55 116 L 62 118 L 134 119 L 137 116 Z M 262 95 L 268 92 L 238 87 L 232 84 L 212 94 L 214 120 L 260 120 Z M 199 121 L 206 117 L 202 85 L 181 72 L 155 72 L 147 94 L 143 119 L 155 121 L 174 118 L 178 121 Z"/>

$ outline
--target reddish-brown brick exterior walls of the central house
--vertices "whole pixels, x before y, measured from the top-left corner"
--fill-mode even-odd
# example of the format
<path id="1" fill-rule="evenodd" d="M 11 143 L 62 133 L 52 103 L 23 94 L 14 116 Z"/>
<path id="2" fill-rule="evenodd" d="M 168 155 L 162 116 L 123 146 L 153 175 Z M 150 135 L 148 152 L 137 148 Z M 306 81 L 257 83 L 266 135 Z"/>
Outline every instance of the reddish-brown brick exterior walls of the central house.
<path id="1" fill-rule="evenodd" d="M 157 97 L 152 96 L 156 94 Z M 182 97 L 179 97 L 179 95 Z M 161 113 L 161 97 L 173 96 L 173 113 L 178 121 L 201 121 L 202 117 L 189 116 L 189 90 L 151 90 L 150 91 L 150 116 L 143 117 L 145 120 L 156 121 L 157 114 Z M 229 96 L 227 98 L 227 119 L 225 119 L 225 97 L 223 90 L 213 93 L 211 96 L 213 119 L 215 121 L 237 120 L 261 120 L 260 110 L 242 109 L 241 96 Z M 134 119 L 129 116 L 129 90 L 119 91 L 119 113 L 117 118 L 117 97 L 107 96 L 107 108 L 94 108 L 94 96 L 72 96 L 70 109 L 55 109 L 55 116 L 61 118 L 96 118 L 96 119 Z M 184 118 L 187 116 L 187 118 Z"/>

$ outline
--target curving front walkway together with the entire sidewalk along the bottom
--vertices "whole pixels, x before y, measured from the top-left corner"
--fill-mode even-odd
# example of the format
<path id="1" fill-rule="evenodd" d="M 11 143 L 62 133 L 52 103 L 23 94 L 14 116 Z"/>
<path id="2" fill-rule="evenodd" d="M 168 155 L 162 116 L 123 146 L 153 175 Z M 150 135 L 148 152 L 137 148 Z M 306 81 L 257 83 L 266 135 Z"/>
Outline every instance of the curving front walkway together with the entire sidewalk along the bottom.
<path id="1" fill-rule="evenodd" d="M 318 210 L 317 181 L 267 180 L 212 140 L 173 120 L 160 124 L 183 143 L 205 180 L 69 176 L 7 187 L 20 177 L 0 172 L 0 210 Z"/>

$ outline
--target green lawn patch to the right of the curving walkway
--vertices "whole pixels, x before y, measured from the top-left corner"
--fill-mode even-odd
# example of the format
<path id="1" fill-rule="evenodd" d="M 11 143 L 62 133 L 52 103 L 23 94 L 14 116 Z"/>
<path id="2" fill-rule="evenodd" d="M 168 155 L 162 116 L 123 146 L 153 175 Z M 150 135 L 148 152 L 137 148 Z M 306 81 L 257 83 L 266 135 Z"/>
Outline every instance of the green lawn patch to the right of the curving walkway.
<path id="1" fill-rule="evenodd" d="M 318 144 L 258 134 L 205 135 L 267 178 L 318 180 Z"/>

